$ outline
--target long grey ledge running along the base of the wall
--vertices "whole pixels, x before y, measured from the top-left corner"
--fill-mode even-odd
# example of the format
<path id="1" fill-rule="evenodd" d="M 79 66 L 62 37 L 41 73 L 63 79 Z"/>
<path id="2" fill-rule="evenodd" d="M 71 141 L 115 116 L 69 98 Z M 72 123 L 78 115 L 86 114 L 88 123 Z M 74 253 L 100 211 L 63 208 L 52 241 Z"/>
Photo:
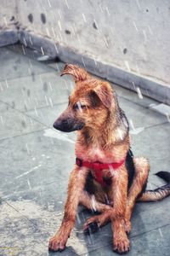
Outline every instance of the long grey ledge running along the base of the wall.
<path id="1" fill-rule="evenodd" d="M 127 72 L 110 63 L 96 61 L 94 56 L 83 55 L 77 49 L 70 49 L 65 45 L 55 43 L 50 38 L 44 38 L 33 32 L 20 31 L 19 34 L 14 31 L 0 32 L 0 38 L 0 46 L 15 44 L 19 41 L 26 47 L 42 52 L 42 55 L 48 55 L 50 59 L 59 57 L 61 61 L 78 64 L 102 79 L 107 79 L 114 84 L 122 85 L 129 90 L 170 105 L 170 85 L 168 84 L 163 84 L 137 73 Z"/>

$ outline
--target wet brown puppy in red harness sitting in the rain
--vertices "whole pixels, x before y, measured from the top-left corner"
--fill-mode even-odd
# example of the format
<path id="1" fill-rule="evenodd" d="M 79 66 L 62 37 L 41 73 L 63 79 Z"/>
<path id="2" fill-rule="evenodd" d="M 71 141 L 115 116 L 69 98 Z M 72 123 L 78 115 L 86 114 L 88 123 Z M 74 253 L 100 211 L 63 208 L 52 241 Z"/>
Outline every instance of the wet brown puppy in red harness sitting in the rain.
<path id="1" fill-rule="evenodd" d="M 133 158 L 127 118 L 111 85 L 74 65 L 65 65 L 61 75 L 64 74 L 71 74 L 76 86 L 69 96 L 68 108 L 54 122 L 54 128 L 77 131 L 77 160 L 69 180 L 65 215 L 59 231 L 49 241 L 49 250 L 65 249 L 77 206 L 82 204 L 101 212 L 88 218 L 84 230 L 94 231 L 111 221 L 113 250 L 126 253 L 135 201 L 161 200 L 170 195 L 170 185 L 145 191 L 149 162 L 143 157 Z M 167 172 L 157 175 L 170 181 Z"/>

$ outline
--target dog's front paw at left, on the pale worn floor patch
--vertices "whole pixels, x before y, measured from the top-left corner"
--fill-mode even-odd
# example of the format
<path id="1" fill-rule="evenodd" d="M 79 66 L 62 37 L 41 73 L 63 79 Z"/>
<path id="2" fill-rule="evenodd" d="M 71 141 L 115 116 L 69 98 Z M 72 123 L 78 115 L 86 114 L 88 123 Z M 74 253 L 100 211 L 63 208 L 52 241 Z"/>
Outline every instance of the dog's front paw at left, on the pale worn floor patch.
<path id="1" fill-rule="evenodd" d="M 65 236 L 61 236 L 56 234 L 49 240 L 48 250 L 51 252 L 62 252 L 65 250 L 67 238 Z"/>

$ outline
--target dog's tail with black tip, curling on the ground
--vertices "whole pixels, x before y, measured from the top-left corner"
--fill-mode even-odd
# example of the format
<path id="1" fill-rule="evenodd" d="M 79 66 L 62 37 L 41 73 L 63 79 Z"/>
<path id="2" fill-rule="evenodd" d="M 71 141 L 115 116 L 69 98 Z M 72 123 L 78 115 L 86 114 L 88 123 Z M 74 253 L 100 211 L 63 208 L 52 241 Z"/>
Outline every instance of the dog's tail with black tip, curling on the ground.
<path id="1" fill-rule="evenodd" d="M 161 177 L 167 184 L 155 190 L 146 190 L 138 201 L 160 201 L 170 195 L 170 172 L 157 172 L 156 176 Z"/>

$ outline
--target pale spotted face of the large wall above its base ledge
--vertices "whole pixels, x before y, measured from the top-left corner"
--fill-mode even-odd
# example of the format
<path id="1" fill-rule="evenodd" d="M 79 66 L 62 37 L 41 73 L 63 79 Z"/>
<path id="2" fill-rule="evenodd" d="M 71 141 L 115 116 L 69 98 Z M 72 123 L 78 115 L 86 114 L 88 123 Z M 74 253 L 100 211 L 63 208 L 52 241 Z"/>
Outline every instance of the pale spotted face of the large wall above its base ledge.
<path id="1" fill-rule="evenodd" d="M 170 82 L 167 0 L 19 0 L 20 22 L 36 34 L 104 61 Z"/>

